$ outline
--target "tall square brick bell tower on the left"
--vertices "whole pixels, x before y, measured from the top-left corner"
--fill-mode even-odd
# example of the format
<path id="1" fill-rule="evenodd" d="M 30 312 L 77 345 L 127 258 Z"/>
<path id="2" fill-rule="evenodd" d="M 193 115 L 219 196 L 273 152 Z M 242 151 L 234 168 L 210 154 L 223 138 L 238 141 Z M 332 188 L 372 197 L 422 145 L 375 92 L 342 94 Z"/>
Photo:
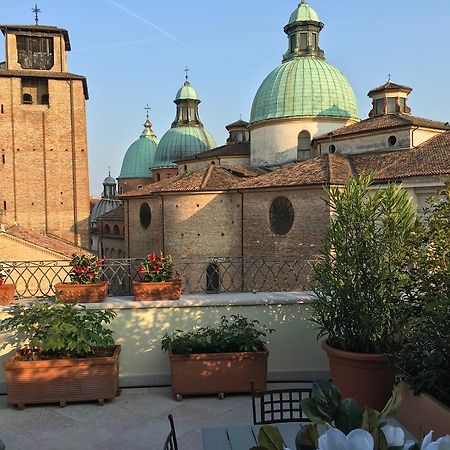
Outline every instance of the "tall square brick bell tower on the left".
<path id="1" fill-rule="evenodd" d="M 0 221 L 89 247 L 86 78 L 67 30 L 0 25 Z"/>

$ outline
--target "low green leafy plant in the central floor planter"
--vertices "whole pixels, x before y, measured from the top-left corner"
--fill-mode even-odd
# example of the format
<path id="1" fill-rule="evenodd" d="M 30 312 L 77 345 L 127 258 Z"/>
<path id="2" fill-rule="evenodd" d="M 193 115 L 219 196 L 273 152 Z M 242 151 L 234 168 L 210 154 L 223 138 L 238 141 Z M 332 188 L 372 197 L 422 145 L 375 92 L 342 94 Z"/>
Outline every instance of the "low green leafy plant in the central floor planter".
<path id="1" fill-rule="evenodd" d="M 240 315 L 229 319 L 222 316 L 218 327 L 202 327 L 196 331 L 176 330 L 165 333 L 161 348 L 173 354 L 258 352 L 264 348 L 264 338 L 274 332 L 257 320 Z"/>

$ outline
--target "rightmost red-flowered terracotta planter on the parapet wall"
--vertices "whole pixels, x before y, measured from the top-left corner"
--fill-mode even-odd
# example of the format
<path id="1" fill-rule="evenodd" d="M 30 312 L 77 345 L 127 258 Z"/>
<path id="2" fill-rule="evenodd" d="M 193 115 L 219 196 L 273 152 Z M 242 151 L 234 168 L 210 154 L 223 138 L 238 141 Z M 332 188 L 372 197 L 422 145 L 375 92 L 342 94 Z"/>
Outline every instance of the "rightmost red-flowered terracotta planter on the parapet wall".
<path id="1" fill-rule="evenodd" d="M 151 253 L 139 268 L 143 281 L 133 281 L 135 300 L 178 300 L 181 295 L 181 280 L 173 269 L 170 255 L 157 256 Z"/>

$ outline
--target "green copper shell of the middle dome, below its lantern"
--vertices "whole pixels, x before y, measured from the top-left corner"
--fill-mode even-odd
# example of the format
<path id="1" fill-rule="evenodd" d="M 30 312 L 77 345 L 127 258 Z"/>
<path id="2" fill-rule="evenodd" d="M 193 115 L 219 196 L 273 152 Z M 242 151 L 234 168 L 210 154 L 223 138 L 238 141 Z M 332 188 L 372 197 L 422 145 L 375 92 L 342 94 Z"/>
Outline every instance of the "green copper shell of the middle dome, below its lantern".
<path id="1" fill-rule="evenodd" d="M 174 161 L 215 147 L 214 138 L 203 127 L 179 126 L 171 128 L 161 138 L 153 167 L 176 167 Z"/>

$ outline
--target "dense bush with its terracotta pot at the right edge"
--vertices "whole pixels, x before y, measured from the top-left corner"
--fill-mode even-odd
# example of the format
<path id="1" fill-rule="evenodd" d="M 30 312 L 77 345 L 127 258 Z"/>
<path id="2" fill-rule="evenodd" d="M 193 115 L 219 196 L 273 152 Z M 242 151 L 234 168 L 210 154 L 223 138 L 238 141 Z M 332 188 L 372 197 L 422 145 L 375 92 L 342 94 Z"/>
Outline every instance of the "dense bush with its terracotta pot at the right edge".
<path id="1" fill-rule="evenodd" d="M 450 434 L 450 186 L 428 199 L 407 289 L 415 308 L 394 362 L 404 374 L 397 418 L 419 437 Z"/>

